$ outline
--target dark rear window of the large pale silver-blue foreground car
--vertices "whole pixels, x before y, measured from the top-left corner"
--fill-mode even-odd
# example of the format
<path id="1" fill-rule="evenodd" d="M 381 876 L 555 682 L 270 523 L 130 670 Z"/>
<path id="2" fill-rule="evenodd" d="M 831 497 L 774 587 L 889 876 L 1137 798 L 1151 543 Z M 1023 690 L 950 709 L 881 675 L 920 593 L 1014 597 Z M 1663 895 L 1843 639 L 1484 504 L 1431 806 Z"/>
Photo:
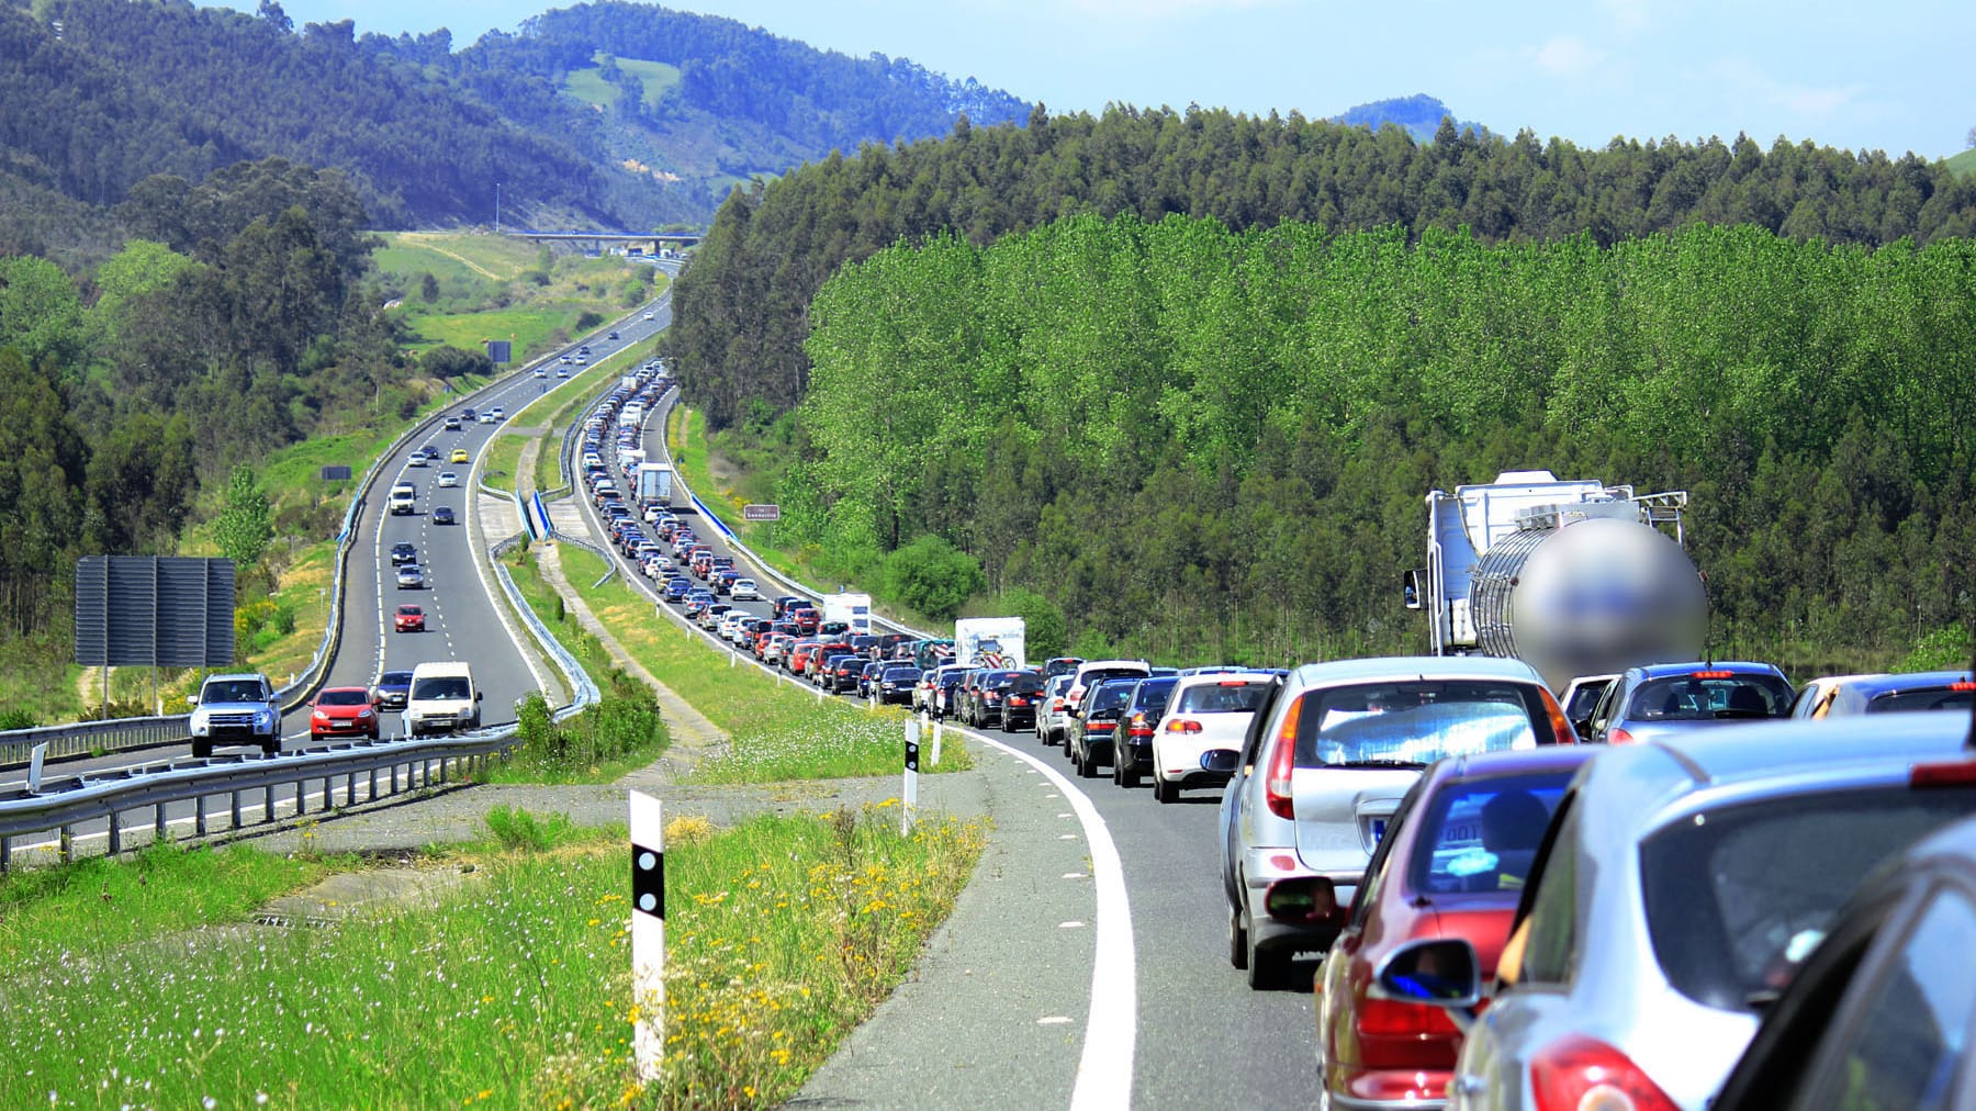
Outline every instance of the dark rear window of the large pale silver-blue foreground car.
<path id="1" fill-rule="evenodd" d="M 1640 844 L 1654 955 L 1682 994 L 1749 1010 L 1784 986 L 1881 860 L 1976 811 L 1976 787 L 1846 789 L 1711 809 Z"/>

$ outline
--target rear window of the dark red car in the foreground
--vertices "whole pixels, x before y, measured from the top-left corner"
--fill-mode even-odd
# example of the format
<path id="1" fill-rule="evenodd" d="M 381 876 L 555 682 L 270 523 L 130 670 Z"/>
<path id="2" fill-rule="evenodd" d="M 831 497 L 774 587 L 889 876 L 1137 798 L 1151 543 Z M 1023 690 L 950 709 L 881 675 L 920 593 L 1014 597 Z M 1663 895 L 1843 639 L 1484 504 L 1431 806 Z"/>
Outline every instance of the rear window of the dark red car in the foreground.
<path id="1" fill-rule="evenodd" d="M 1444 787 L 1417 818 L 1407 886 L 1421 894 L 1520 892 L 1577 769 Z"/>

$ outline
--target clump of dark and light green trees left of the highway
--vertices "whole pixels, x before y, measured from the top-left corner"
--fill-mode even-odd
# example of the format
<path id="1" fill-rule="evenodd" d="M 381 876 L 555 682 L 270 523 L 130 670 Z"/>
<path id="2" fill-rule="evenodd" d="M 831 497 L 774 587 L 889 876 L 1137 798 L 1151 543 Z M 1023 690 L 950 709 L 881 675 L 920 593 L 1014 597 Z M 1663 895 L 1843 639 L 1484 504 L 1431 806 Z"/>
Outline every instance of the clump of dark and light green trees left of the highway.
<path id="1" fill-rule="evenodd" d="M 0 255 L 0 644 L 65 654 L 73 561 L 172 554 L 237 465 L 419 397 L 354 186 L 279 158 L 136 182 L 81 281 Z"/>

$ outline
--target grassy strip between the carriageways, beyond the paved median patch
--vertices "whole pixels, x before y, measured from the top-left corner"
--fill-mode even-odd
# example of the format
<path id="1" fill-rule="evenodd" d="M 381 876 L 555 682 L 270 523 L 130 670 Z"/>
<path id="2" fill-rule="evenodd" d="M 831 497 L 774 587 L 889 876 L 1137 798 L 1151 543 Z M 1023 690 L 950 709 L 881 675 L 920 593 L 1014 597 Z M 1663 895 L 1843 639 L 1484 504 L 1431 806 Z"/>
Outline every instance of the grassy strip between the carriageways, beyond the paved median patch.
<path id="1" fill-rule="evenodd" d="M 729 733 L 727 753 L 703 763 L 696 779 L 777 783 L 891 775 L 899 769 L 903 710 L 887 706 L 873 712 L 842 698 L 818 702 L 806 684 L 779 684 L 755 668 L 729 666 L 727 652 L 656 617 L 652 603 L 628 583 L 611 579 L 593 585 L 605 573 L 597 556 L 565 546 L 559 557 L 571 587 L 624 650 Z M 939 767 L 927 771 L 968 767 L 974 767 L 974 757 L 954 735 L 943 745 Z"/>

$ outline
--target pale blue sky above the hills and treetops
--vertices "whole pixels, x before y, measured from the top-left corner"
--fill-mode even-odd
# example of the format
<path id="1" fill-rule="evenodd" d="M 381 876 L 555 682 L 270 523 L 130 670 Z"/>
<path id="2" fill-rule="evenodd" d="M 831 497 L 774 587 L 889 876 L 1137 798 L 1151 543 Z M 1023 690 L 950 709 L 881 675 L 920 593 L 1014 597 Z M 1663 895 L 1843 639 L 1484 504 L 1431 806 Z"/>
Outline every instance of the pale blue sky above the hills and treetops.
<path id="1" fill-rule="evenodd" d="M 253 10 L 257 0 L 233 0 Z M 549 4 L 285 0 L 358 34 L 514 30 Z M 678 8 L 976 77 L 1051 111 L 1227 107 L 1336 115 L 1411 93 L 1500 132 L 1603 146 L 1749 132 L 1962 150 L 1976 127 L 1970 0 L 703 0 Z M 1964 73 L 1964 77 L 1956 77 Z"/>

